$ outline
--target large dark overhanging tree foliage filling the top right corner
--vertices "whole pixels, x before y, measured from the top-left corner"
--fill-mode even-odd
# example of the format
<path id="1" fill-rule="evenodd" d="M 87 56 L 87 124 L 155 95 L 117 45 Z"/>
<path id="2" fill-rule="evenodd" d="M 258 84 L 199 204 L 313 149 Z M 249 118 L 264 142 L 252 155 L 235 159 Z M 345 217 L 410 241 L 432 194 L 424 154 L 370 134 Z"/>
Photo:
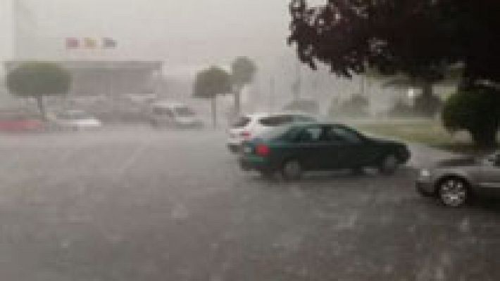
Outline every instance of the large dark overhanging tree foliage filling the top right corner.
<path id="1" fill-rule="evenodd" d="M 344 77 L 374 67 L 382 74 L 403 73 L 422 89 L 417 110 L 432 100 L 432 84 L 451 65 L 465 67 L 466 86 L 480 79 L 499 81 L 500 1 L 325 0 L 310 7 L 292 0 L 289 44 L 313 69 L 329 65 Z M 427 112 L 429 110 L 429 112 Z"/>

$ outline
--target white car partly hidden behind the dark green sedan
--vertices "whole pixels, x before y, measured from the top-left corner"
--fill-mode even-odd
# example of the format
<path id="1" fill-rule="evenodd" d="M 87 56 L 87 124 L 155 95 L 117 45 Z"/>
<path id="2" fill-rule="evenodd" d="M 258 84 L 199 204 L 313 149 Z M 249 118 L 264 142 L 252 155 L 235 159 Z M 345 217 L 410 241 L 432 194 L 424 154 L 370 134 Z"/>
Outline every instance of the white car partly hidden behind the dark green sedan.
<path id="1" fill-rule="evenodd" d="M 258 134 L 285 126 L 294 122 L 316 122 L 317 119 L 303 113 L 256 113 L 239 117 L 228 130 L 227 148 L 239 152 L 243 141 L 248 141 Z"/>

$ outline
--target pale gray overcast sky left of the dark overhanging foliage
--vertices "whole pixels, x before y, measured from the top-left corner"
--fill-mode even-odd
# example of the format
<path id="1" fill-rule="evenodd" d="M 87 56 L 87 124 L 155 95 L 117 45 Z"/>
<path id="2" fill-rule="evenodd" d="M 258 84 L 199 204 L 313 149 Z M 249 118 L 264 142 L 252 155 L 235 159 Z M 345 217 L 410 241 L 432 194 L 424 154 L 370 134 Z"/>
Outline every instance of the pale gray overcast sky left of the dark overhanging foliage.
<path id="1" fill-rule="evenodd" d="M 197 65 L 287 51 L 287 0 L 23 0 L 39 36 L 62 48 L 64 37 L 115 37 L 112 55 Z M 319 1 L 319 0 L 318 0 Z M 49 50 L 51 51 L 51 50 Z M 60 50 L 61 51 L 61 50 Z"/>

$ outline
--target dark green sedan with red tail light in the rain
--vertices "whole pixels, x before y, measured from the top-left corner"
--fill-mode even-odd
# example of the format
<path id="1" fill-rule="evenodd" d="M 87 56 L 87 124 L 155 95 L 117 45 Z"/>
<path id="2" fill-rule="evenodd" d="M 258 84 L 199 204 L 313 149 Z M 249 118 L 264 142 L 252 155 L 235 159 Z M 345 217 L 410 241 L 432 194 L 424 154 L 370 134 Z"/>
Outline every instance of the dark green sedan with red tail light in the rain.
<path id="1" fill-rule="evenodd" d="M 239 163 L 263 176 L 279 171 L 299 179 L 304 171 L 375 167 L 392 174 L 408 161 L 404 143 L 370 138 L 342 124 L 292 124 L 243 144 Z"/>

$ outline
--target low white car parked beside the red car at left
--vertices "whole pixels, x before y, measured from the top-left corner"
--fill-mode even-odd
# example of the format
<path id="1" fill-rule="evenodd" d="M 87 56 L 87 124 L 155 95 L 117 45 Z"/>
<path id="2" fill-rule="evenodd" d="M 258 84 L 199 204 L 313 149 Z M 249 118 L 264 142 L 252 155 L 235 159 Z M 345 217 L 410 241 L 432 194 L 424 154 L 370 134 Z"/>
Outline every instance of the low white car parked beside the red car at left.
<path id="1" fill-rule="evenodd" d="M 48 117 L 53 129 L 96 129 L 102 126 L 101 121 L 83 110 L 67 110 L 57 112 Z"/>

